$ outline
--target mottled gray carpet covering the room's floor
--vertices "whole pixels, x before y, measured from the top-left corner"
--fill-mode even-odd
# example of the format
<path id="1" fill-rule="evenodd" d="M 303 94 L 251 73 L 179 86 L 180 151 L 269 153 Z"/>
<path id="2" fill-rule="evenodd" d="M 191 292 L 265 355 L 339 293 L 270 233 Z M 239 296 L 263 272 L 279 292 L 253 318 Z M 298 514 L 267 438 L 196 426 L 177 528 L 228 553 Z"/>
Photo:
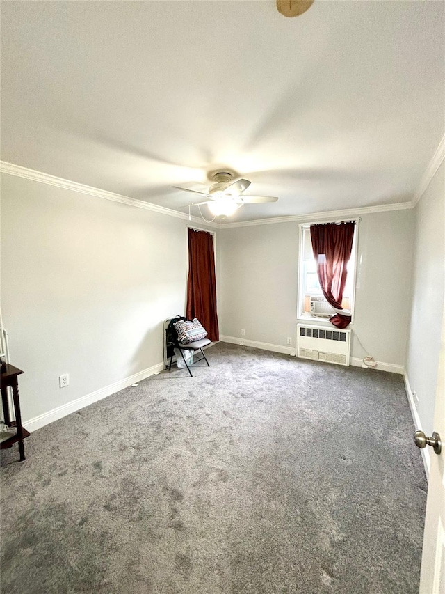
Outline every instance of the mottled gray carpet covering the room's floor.
<path id="1" fill-rule="evenodd" d="M 1 592 L 417 593 L 402 377 L 207 353 L 3 452 Z"/>

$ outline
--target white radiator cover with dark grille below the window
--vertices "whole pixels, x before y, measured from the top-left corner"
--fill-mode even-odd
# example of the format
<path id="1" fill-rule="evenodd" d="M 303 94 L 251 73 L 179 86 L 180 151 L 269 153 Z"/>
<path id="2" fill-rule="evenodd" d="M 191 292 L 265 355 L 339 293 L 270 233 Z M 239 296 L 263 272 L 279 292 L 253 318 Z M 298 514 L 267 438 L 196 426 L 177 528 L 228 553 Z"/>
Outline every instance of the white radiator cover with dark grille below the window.
<path id="1" fill-rule="evenodd" d="M 297 357 L 349 365 L 350 330 L 297 325 Z"/>

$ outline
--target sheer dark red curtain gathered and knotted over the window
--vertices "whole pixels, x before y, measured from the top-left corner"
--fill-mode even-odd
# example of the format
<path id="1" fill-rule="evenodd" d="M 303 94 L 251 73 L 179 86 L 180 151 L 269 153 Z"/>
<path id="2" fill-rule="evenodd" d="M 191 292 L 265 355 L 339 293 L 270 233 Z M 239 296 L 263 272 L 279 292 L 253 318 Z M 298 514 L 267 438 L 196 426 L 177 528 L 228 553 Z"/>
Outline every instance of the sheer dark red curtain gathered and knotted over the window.
<path id="1" fill-rule="evenodd" d="M 350 253 L 353 249 L 355 224 L 325 223 L 311 225 L 311 240 L 317 263 L 318 280 L 327 302 L 343 310 L 341 301 L 346 283 Z M 350 313 L 336 313 L 330 322 L 337 328 L 350 324 Z"/>

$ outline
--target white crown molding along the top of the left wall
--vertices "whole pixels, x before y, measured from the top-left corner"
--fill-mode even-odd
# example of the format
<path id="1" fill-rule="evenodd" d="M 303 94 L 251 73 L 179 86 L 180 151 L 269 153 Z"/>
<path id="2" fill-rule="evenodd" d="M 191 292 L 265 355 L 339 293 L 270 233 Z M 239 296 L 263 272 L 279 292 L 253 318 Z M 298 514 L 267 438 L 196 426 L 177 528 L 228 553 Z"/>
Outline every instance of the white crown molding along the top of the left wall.
<path id="1" fill-rule="evenodd" d="M 188 214 L 185 212 L 178 212 L 177 210 L 138 200 L 137 198 L 131 198 L 130 196 L 122 196 L 121 194 L 114 194 L 114 192 L 108 192 L 107 190 L 79 184 L 78 182 L 72 182 L 63 178 L 57 178 L 55 175 L 28 169 L 27 167 L 22 167 L 13 163 L 0 161 L 0 172 L 7 173 L 8 175 L 15 175 L 17 178 L 24 178 L 26 180 L 33 180 L 34 182 L 68 189 L 72 192 L 79 192 L 79 194 L 88 194 L 88 196 L 95 196 L 95 198 L 105 198 L 106 200 L 111 200 L 113 202 L 135 206 L 136 208 L 143 208 L 152 212 L 158 212 L 159 214 L 166 214 L 168 217 L 175 217 L 177 219 L 183 219 L 184 221 L 193 221 L 194 223 L 200 224 L 205 222 L 205 224 L 211 228 L 220 228 L 218 223 L 208 223 L 207 221 L 202 221 L 200 217 L 188 217 Z"/>

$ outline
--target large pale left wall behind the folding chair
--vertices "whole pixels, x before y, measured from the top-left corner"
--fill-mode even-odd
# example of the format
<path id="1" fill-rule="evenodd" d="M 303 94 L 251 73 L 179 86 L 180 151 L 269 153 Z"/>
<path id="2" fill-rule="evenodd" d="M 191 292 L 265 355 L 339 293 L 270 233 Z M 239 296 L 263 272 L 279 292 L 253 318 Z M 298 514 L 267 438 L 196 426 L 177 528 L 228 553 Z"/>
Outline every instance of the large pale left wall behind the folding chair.
<path id="1" fill-rule="evenodd" d="M 187 221 L 1 181 L 1 306 L 24 421 L 161 364 L 163 320 L 185 308 Z"/>

